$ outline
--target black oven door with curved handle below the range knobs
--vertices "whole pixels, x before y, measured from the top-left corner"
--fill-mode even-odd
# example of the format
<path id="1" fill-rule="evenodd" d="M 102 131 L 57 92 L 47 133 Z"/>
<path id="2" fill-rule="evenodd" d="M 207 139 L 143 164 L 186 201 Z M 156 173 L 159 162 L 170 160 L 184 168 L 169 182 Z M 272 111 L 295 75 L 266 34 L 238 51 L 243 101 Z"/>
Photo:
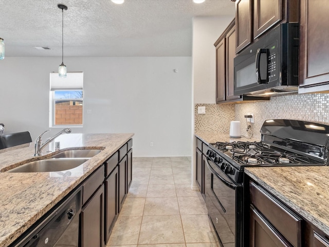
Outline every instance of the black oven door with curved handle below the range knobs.
<path id="1" fill-rule="evenodd" d="M 207 158 L 205 180 L 208 216 L 218 242 L 223 247 L 241 247 L 242 185 L 234 184 L 210 158 Z"/>

